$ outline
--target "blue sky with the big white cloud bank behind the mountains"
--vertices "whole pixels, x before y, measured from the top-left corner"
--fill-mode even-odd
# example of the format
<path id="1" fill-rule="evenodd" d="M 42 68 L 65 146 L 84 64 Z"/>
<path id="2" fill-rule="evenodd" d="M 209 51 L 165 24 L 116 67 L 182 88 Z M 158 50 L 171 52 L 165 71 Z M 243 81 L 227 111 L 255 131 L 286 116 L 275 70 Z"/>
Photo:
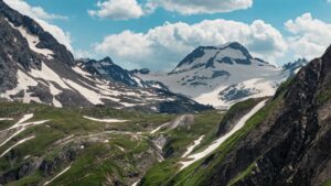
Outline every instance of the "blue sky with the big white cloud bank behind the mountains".
<path id="1" fill-rule="evenodd" d="M 100 0 L 99 2 L 103 3 L 105 1 L 113 1 L 111 3 L 118 1 L 119 3 L 119 0 Z M 158 8 L 151 11 L 147 10 L 147 1 L 156 1 L 154 3 L 158 4 Z M 177 1 L 186 1 L 189 7 L 194 6 L 193 12 L 182 12 L 181 9 L 170 10 L 179 6 L 174 4 Z M 138 0 L 137 4 L 143 13 L 141 14 L 140 12 L 140 14 L 138 13 L 139 15 L 132 15 L 135 18 L 124 20 L 114 17 L 114 12 L 106 17 L 88 13 L 88 10 L 97 12 L 103 9 L 103 7 L 97 6 L 96 0 L 65 0 L 65 2 L 60 0 L 25 0 L 32 9 L 39 7 L 49 14 L 58 15 L 58 18 L 53 19 L 39 19 L 61 28 L 65 33 L 70 33 L 71 45 L 77 57 L 90 56 L 102 58 L 109 55 L 117 64 L 127 68 L 149 67 L 168 70 L 199 45 L 221 45 L 225 42 L 232 42 L 232 40 L 239 41 L 246 45 L 254 55 L 276 64 L 284 64 L 298 57 L 312 58 L 321 55 L 322 48 L 325 48 L 331 43 L 331 36 L 328 34 L 328 31 L 331 31 L 331 3 L 327 2 L 328 0 L 243 0 L 243 4 L 252 1 L 250 3 L 253 4 L 248 6 L 249 8 L 247 9 L 243 8 L 243 4 L 238 4 L 238 8 L 236 8 L 236 4 L 231 4 L 231 0 L 225 0 L 229 1 L 232 8 L 235 9 L 228 11 L 215 8 L 220 6 L 220 0 L 207 0 L 210 7 L 204 8 L 207 8 L 207 10 L 209 8 L 215 8 L 215 10 L 211 9 L 211 11 L 200 12 L 194 11 L 199 9 L 199 6 L 201 6 L 199 1 L 202 2 L 202 0 L 177 1 Z M 164 6 L 166 2 L 168 7 Z M 190 4 L 191 2 L 192 4 Z M 122 12 L 117 13 L 124 15 L 130 12 L 130 8 L 124 4 Z M 223 20 L 223 22 L 209 22 L 204 26 L 200 25 L 203 21 L 214 20 Z M 235 23 L 246 24 L 246 28 L 237 26 L 241 32 L 249 32 L 249 34 L 238 34 L 238 39 L 231 36 L 231 33 L 234 30 L 238 30 L 238 28 L 227 28 L 227 25 L 232 26 L 232 23 L 228 22 L 229 20 L 235 21 Z M 261 20 L 263 23 L 253 24 L 256 20 Z M 292 24 L 285 24 L 289 20 L 292 20 Z M 184 24 L 178 25 L 179 22 Z M 173 24 L 173 26 L 164 26 L 164 23 Z M 217 36 L 206 37 L 203 33 L 207 33 L 210 30 L 220 26 L 218 23 L 224 24 L 224 28 L 220 28 L 217 31 L 222 33 L 211 32 L 212 35 Z M 271 29 L 267 28 L 267 25 Z M 154 28 L 157 26 L 162 29 L 156 31 Z M 190 29 L 188 30 L 188 28 Z M 256 28 L 263 29 L 256 31 Z M 180 37 L 183 41 L 180 43 L 173 41 L 164 44 L 167 40 L 172 40 L 169 36 L 173 36 L 173 33 L 162 34 L 174 30 L 179 30 Z M 325 31 L 320 32 L 319 30 Z M 150 31 L 154 32 L 151 33 Z M 196 36 L 199 37 L 196 41 L 194 36 L 195 31 L 200 34 Z M 265 36 L 268 39 L 260 39 L 259 32 L 270 33 Z M 130 43 L 129 39 L 131 39 L 132 43 Z M 191 42 L 192 39 L 194 42 Z M 141 45 L 135 41 L 138 41 Z M 266 50 L 263 50 L 264 47 Z M 281 47 L 286 47 L 286 50 L 281 50 Z M 300 51 L 296 47 L 303 48 Z M 126 52 L 120 51 L 121 48 L 125 48 Z"/>

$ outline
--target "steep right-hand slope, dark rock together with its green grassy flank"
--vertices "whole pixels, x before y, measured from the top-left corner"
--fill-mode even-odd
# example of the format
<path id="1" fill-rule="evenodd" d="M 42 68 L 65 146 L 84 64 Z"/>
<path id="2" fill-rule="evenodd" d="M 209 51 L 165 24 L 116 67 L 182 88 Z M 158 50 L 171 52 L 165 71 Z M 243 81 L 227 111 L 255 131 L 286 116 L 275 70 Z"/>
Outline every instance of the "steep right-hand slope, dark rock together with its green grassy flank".
<path id="1" fill-rule="evenodd" d="M 331 46 L 322 57 L 313 59 L 295 78 L 284 83 L 267 102 L 261 101 L 265 107 L 255 110 L 258 105 L 255 106 L 249 118 L 246 118 L 249 116 L 247 108 L 256 101 L 232 109 L 246 112 L 239 121 L 234 120 L 235 114 L 224 116 L 221 124 L 227 127 L 220 125 L 217 135 L 226 140 L 214 151 L 185 168 L 180 168 L 185 164 L 159 164 L 157 166 L 167 172 L 158 176 L 148 172 L 140 185 L 151 182 L 169 186 L 329 185 L 330 91 Z M 227 136 L 228 132 L 224 131 L 233 131 L 243 119 L 244 125 Z M 237 124 L 231 127 L 232 122 Z M 190 158 L 196 156 L 193 154 Z"/>

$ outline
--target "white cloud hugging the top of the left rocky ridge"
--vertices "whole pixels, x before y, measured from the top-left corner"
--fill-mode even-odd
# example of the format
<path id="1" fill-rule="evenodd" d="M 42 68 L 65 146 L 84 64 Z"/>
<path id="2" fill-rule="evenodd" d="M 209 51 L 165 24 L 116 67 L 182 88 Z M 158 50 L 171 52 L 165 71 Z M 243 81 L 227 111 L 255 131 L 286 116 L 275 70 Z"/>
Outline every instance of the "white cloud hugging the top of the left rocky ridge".
<path id="1" fill-rule="evenodd" d="M 12 9 L 35 20 L 46 32 L 51 33 L 61 44 L 65 45 L 67 50 L 73 52 L 70 33 L 64 32 L 61 28 L 49 23 L 50 20 L 67 19 L 66 17 L 47 13 L 43 8 L 32 7 L 24 0 L 3 1 Z"/>

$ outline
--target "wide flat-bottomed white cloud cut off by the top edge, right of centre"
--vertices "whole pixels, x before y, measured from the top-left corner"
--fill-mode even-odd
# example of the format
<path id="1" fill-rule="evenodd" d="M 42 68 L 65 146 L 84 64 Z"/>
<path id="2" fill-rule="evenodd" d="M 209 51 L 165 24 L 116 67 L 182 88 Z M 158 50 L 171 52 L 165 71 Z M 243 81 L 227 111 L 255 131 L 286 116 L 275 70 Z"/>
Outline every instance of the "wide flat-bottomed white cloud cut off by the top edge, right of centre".
<path id="1" fill-rule="evenodd" d="M 148 6 L 181 14 L 202 14 L 248 9 L 253 6 L 253 0 L 149 0 Z"/>

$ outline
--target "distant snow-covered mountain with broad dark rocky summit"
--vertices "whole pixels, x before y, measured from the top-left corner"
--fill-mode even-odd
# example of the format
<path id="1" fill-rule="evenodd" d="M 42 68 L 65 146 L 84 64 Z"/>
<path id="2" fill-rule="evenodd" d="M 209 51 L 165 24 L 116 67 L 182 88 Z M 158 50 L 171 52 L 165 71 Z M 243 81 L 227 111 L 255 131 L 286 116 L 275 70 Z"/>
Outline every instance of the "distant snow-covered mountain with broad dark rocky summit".
<path id="1" fill-rule="evenodd" d="M 143 80 L 160 81 L 171 91 L 218 108 L 273 96 L 279 84 L 303 66 L 303 61 L 277 68 L 253 57 L 239 43 L 200 46 L 171 73 L 139 73 Z"/>

